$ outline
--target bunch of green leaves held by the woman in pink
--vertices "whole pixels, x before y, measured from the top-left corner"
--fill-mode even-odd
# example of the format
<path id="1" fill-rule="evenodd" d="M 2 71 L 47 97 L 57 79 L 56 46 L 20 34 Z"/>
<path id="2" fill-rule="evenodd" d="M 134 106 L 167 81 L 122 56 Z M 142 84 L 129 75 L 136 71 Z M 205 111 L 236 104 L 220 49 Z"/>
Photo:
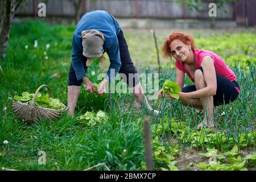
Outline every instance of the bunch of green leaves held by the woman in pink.
<path id="1" fill-rule="evenodd" d="M 177 85 L 176 82 L 172 82 L 171 80 L 166 80 L 164 81 L 163 84 L 163 93 L 166 94 L 167 92 L 169 92 L 169 94 L 176 98 L 179 99 L 179 93 L 181 91 L 181 88 L 179 87 L 179 85 Z"/>

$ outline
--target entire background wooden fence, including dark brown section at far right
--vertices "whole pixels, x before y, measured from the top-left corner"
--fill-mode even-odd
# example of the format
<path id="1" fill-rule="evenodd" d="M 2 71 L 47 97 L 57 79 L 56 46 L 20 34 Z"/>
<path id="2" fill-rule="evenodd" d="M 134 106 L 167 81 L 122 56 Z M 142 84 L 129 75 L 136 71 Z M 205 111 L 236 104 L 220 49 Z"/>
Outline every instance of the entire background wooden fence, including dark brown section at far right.
<path id="1" fill-rule="evenodd" d="M 180 0 L 181 1 L 181 0 Z M 15 16 L 37 16 L 38 4 L 46 3 L 48 17 L 74 17 L 76 10 L 71 0 L 24 0 Z M 186 6 L 177 5 L 174 0 L 82 0 L 80 16 L 90 10 L 105 10 L 117 18 L 159 18 L 159 19 L 209 19 L 208 3 L 204 11 L 190 11 Z M 225 13 L 226 10 L 226 13 Z M 256 25 L 256 1 L 237 0 L 236 3 L 218 9 L 217 19 L 234 20 L 238 26 Z"/>

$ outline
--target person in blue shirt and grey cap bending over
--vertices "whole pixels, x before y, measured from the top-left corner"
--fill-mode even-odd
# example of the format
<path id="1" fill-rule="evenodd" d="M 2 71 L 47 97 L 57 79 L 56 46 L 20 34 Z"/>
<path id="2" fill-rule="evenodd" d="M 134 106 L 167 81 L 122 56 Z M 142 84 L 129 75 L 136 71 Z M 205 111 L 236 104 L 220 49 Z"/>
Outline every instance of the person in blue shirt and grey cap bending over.
<path id="1" fill-rule="evenodd" d="M 147 100 L 144 100 L 137 69 L 131 61 L 125 37 L 117 20 L 108 12 L 101 10 L 84 14 L 73 35 L 72 61 L 68 73 L 69 114 L 74 115 L 82 82 L 86 85 L 87 92 L 96 92 L 86 76 L 86 71 L 94 57 L 100 57 L 101 64 L 104 64 L 104 52 L 109 56 L 110 66 L 104 80 L 98 85 L 98 94 L 102 96 L 106 92 L 105 84 L 109 81 L 113 82 L 119 73 L 123 81 L 133 90 L 139 104 L 143 105 L 143 101 L 146 101 L 148 110 L 158 114 L 158 111 L 152 110 Z"/>

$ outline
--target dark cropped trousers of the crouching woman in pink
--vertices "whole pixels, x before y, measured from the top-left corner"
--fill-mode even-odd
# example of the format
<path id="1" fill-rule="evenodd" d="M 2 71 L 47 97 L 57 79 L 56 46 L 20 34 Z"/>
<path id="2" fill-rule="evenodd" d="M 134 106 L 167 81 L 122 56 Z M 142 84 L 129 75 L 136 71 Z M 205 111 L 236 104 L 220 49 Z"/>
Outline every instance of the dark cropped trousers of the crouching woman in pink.
<path id="1" fill-rule="evenodd" d="M 203 73 L 203 68 L 200 67 Z M 237 99 L 238 94 L 240 93 L 240 87 L 236 81 L 230 81 L 224 76 L 216 73 L 217 79 L 217 90 L 216 95 L 213 96 L 214 106 L 229 104 Z M 238 91 L 239 90 L 239 91 Z M 185 86 L 181 92 L 193 92 L 196 91 L 196 85 Z"/>

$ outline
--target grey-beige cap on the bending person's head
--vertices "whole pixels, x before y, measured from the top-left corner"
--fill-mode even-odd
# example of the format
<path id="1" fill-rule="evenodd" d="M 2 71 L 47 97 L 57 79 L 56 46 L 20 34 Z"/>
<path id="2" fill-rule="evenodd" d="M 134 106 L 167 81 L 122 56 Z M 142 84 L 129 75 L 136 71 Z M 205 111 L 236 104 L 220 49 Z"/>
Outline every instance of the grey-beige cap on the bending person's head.
<path id="1" fill-rule="evenodd" d="M 101 57 L 104 52 L 104 35 L 98 30 L 82 31 L 82 55 L 85 57 Z"/>

